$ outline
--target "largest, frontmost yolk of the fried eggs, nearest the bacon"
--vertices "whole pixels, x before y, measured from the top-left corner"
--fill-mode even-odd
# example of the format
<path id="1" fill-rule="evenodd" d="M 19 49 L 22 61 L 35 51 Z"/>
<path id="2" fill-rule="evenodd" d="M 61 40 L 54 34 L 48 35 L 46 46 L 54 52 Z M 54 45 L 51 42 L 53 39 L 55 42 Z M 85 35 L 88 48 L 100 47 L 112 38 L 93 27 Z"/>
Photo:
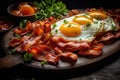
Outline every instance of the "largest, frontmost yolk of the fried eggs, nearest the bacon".
<path id="1" fill-rule="evenodd" d="M 76 37 L 81 33 L 81 27 L 75 22 L 63 24 L 60 31 L 67 37 Z"/>

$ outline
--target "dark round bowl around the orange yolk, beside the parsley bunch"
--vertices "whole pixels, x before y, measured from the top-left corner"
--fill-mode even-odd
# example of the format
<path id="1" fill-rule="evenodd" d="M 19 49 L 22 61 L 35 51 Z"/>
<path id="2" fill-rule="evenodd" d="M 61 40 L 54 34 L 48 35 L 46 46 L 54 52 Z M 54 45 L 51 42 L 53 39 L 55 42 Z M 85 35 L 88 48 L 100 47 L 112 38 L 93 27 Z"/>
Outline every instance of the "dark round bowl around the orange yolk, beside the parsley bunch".
<path id="1" fill-rule="evenodd" d="M 35 10 L 34 14 L 30 14 L 30 15 L 16 15 L 13 13 L 13 11 L 17 11 L 20 10 L 19 6 L 21 4 L 27 3 L 28 5 L 32 6 Z M 12 15 L 12 18 L 14 18 L 14 20 L 17 19 L 18 20 L 23 20 L 23 19 L 27 19 L 27 20 L 33 20 L 34 19 L 34 15 L 37 13 L 37 8 L 34 6 L 33 2 L 19 2 L 19 3 L 13 3 L 10 6 L 8 6 L 7 11 L 10 15 Z"/>

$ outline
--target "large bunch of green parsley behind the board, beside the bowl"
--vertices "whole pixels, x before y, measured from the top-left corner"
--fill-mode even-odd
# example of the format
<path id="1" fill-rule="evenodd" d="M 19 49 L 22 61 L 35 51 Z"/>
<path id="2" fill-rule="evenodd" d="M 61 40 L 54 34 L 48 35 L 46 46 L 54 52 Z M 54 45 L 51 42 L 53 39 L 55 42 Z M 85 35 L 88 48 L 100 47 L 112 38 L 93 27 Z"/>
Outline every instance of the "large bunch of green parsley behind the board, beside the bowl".
<path id="1" fill-rule="evenodd" d="M 36 20 L 55 16 L 60 18 L 68 12 L 66 5 L 62 1 L 56 0 L 41 0 L 41 2 L 34 1 L 34 5 L 37 7 L 38 12 L 34 16 Z"/>

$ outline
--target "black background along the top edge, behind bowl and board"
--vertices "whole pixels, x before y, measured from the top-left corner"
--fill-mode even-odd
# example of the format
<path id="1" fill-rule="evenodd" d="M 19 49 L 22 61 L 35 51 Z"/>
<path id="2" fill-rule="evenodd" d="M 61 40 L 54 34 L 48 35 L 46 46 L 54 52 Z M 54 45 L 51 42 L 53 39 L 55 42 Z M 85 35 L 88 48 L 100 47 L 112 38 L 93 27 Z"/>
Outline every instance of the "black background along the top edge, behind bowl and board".
<path id="1" fill-rule="evenodd" d="M 22 1 L 34 1 L 34 0 L 1 0 L 0 1 L 0 14 L 5 14 L 6 8 L 15 2 Z M 40 0 L 37 0 L 40 1 Z M 60 1 L 60 0 L 59 0 Z M 62 0 L 67 4 L 67 8 L 92 8 L 92 7 L 103 7 L 103 8 L 120 8 L 119 0 Z"/>

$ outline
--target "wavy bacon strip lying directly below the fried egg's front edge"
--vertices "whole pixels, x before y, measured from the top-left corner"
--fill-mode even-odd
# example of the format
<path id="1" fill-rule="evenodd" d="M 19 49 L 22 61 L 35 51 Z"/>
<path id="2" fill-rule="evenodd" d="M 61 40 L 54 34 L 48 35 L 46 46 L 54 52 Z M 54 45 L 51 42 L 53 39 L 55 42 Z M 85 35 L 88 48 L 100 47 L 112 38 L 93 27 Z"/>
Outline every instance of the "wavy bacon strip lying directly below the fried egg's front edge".
<path id="1" fill-rule="evenodd" d="M 67 51 L 78 51 L 81 49 L 87 50 L 90 48 L 90 43 L 88 42 L 75 42 L 75 41 L 67 41 L 63 38 L 53 37 L 52 41 L 56 43 L 56 45 L 62 50 Z"/>

